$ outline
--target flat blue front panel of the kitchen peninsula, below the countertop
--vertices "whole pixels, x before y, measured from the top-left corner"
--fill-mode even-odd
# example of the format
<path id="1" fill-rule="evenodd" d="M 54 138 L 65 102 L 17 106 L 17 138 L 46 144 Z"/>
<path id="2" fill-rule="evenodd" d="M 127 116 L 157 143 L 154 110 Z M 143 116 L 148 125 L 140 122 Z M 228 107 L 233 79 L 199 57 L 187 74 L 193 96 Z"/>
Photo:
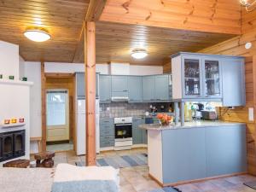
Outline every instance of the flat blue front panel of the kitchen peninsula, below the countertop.
<path id="1" fill-rule="evenodd" d="M 163 183 L 247 172 L 245 126 L 162 131 Z"/>

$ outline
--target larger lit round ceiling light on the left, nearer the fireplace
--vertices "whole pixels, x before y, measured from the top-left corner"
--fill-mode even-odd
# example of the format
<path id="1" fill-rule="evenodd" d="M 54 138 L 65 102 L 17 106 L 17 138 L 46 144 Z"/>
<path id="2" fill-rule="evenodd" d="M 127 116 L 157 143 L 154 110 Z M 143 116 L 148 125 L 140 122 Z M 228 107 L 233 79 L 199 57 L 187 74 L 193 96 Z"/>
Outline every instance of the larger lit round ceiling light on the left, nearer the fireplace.
<path id="1" fill-rule="evenodd" d="M 24 32 L 26 38 L 35 42 L 44 42 L 49 40 L 51 37 L 48 32 L 38 29 L 29 29 Z"/>

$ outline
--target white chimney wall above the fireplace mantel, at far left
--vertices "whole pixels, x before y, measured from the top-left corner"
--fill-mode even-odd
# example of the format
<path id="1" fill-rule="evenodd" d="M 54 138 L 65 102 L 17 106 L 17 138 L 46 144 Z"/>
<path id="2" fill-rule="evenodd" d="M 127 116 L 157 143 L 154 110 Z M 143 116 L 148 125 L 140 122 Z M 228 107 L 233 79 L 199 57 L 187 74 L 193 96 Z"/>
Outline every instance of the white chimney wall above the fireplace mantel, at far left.
<path id="1" fill-rule="evenodd" d="M 0 74 L 4 79 L 14 75 L 19 79 L 19 46 L 0 41 Z"/>

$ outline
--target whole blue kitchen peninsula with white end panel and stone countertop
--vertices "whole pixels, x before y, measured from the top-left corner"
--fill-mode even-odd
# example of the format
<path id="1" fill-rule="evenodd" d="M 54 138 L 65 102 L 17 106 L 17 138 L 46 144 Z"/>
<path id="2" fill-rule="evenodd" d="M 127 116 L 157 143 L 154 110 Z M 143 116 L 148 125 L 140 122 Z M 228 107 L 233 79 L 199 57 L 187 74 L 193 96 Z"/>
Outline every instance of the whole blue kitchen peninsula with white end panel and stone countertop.
<path id="1" fill-rule="evenodd" d="M 246 125 L 195 121 L 145 124 L 149 175 L 163 186 L 247 172 Z"/>

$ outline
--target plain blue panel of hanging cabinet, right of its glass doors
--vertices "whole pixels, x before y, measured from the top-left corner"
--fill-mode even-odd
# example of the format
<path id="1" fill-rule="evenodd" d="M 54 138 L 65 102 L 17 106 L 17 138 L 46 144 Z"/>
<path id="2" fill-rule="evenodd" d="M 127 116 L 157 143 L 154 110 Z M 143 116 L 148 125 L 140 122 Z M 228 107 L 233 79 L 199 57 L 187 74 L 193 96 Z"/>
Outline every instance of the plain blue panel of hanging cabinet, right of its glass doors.
<path id="1" fill-rule="evenodd" d="M 243 59 L 222 60 L 223 106 L 245 106 L 245 70 Z"/>

